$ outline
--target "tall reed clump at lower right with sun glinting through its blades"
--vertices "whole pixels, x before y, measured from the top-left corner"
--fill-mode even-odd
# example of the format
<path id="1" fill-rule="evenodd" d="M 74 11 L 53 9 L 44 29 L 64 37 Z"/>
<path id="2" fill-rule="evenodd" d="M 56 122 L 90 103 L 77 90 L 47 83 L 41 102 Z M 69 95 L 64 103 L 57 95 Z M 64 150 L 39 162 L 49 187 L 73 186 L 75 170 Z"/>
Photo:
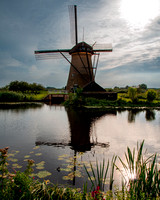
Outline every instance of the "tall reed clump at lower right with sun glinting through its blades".
<path id="1" fill-rule="evenodd" d="M 133 152 L 127 147 L 126 164 L 119 157 L 125 173 L 120 170 L 126 180 L 129 199 L 156 199 L 160 194 L 160 171 L 157 168 L 156 154 L 144 159 L 144 141 L 137 144 Z M 127 180 L 128 179 L 128 180 Z"/>

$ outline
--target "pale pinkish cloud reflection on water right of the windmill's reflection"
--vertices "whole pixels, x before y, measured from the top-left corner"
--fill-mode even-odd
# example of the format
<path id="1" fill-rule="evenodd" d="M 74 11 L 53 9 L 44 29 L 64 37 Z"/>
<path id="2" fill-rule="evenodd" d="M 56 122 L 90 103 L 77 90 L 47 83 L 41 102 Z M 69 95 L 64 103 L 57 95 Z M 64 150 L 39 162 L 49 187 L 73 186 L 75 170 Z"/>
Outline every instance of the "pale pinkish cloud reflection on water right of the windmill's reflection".
<path id="1" fill-rule="evenodd" d="M 156 114 L 158 111 L 156 111 Z M 123 156 L 127 146 L 136 147 L 137 141 L 145 140 L 149 150 L 153 146 L 159 150 L 159 124 L 158 119 L 146 121 L 145 112 L 136 115 L 136 123 L 128 123 L 128 111 L 117 113 L 117 116 L 105 116 L 94 124 L 98 141 L 110 143 L 110 153 Z"/>

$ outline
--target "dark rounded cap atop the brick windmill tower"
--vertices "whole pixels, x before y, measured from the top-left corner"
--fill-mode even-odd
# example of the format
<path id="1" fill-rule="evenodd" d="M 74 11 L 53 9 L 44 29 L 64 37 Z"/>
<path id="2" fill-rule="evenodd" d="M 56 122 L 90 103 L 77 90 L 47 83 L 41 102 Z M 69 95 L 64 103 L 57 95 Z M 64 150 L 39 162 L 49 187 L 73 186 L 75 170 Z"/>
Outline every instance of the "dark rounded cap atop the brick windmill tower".
<path id="1" fill-rule="evenodd" d="M 93 48 L 85 42 L 80 42 L 70 50 L 69 54 L 76 52 L 89 52 L 93 54 Z"/>

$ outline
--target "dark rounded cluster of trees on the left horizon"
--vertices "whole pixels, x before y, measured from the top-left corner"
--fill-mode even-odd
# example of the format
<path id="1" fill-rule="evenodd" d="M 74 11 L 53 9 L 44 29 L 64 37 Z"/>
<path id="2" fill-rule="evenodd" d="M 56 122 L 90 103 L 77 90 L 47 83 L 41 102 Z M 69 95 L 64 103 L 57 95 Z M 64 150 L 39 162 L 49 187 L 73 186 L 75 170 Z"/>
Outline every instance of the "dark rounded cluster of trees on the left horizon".
<path id="1" fill-rule="evenodd" d="M 41 84 L 27 83 L 25 81 L 12 81 L 5 88 L 9 91 L 34 94 L 38 94 L 39 91 L 45 90 Z"/>

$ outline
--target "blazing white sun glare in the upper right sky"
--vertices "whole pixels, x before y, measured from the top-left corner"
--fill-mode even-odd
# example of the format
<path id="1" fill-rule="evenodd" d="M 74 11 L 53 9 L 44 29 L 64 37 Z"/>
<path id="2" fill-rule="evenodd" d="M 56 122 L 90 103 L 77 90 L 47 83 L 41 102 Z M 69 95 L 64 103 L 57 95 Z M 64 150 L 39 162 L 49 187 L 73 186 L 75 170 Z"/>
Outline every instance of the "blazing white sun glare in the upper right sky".
<path id="1" fill-rule="evenodd" d="M 160 13 L 159 0 L 121 0 L 120 14 L 134 29 L 143 29 Z"/>

